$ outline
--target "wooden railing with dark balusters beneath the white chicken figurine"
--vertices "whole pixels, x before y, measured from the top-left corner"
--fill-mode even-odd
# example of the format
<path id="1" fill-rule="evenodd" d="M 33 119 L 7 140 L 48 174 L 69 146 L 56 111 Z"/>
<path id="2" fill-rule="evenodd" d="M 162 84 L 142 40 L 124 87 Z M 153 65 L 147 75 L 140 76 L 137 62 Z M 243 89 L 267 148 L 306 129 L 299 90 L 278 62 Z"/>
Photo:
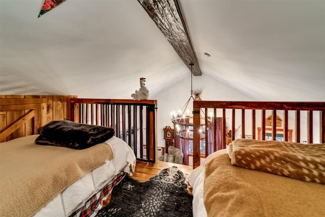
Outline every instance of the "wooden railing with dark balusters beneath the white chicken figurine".
<path id="1" fill-rule="evenodd" d="M 156 162 L 156 100 L 71 99 L 71 120 L 111 127 L 138 161 Z"/>

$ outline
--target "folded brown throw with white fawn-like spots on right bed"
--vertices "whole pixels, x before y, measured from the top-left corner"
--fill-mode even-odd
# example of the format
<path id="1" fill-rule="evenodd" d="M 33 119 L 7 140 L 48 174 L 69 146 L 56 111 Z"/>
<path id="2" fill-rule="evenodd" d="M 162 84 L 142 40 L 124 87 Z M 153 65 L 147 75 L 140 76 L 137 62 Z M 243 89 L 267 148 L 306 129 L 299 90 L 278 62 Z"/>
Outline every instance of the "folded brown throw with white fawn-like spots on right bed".
<path id="1" fill-rule="evenodd" d="M 325 144 L 236 139 L 229 156 L 232 164 L 247 169 L 325 183 Z"/>

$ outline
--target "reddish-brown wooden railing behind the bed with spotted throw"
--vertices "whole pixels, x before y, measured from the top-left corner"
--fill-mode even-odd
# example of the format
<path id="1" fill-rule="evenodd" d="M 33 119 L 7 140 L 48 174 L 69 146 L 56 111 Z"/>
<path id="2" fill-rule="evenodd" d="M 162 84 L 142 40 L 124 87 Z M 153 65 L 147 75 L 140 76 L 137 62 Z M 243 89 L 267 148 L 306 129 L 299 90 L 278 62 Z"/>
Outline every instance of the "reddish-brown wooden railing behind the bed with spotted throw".
<path id="1" fill-rule="evenodd" d="M 201 112 L 200 112 L 201 111 Z M 203 112 L 202 112 L 203 111 Z M 261 113 L 257 116 L 256 113 Z M 289 141 L 288 133 L 289 122 L 294 122 L 295 142 L 302 142 L 301 137 L 304 133 L 306 140 L 304 143 L 316 142 L 325 143 L 325 103 L 324 102 L 225 102 L 225 101 L 193 101 L 193 168 L 200 165 L 200 120 L 205 119 L 208 122 L 209 116 L 222 117 L 222 144 L 223 148 L 226 145 L 226 126 L 232 130 L 231 140 L 237 138 L 245 138 L 246 132 L 250 131 L 249 135 L 252 139 L 256 139 L 256 129 L 261 128 L 261 140 L 266 140 L 266 113 L 271 113 L 272 123 L 271 128 L 272 140 L 276 139 L 277 131 L 283 132 L 283 141 Z M 238 115 L 239 113 L 239 115 Z M 212 115 L 211 115 L 212 114 Z M 236 115 L 237 114 L 237 115 Z M 277 128 L 276 116 L 282 116 L 282 129 Z M 238 118 L 238 116 L 240 116 Z M 250 120 L 246 121 L 250 116 Z M 213 118 L 214 120 L 216 118 Z M 230 119 L 231 121 L 226 121 Z M 259 120 L 259 121 L 258 121 Z M 237 128 L 236 123 L 239 123 Z M 249 129 L 246 125 L 251 125 Z M 215 125 L 216 123 L 211 123 Z M 305 127 L 304 127 L 305 126 Z M 316 127 L 315 127 L 316 126 Z M 206 128 L 207 129 L 207 128 Z M 216 150 L 216 128 L 212 132 L 214 138 L 214 150 Z M 238 133 L 237 131 L 241 129 Z M 316 132 L 315 131 L 318 131 Z M 219 129 L 220 130 L 220 129 Z M 237 134 L 236 134 L 237 132 Z M 319 138 L 314 138 L 314 135 L 319 135 Z M 206 132 L 206 139 L 208 131 Z M 206 151 L 207 153 L 207 151 Z"/>

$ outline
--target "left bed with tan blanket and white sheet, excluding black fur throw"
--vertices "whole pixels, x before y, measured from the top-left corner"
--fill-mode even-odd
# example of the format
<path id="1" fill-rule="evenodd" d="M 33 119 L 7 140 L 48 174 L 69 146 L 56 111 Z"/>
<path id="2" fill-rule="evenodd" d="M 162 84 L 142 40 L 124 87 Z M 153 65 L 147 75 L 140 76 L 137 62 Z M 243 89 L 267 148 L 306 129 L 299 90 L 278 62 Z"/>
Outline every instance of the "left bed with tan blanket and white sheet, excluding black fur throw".
<path id="1" fill-rule="evenodd" d="M 117 137 L 76 150 L 37 145 L 38 136 L 0 144 L 1 213 L 5 216 L 70 216 L 75 211 L 79 216 L 90 197 L 105 185 L 112 189 L 136 164 L 131 148 Z M 107 193 L 98 199 L 105 200 Z M 101 202 L 96 205 L 100 208 Z"/>

